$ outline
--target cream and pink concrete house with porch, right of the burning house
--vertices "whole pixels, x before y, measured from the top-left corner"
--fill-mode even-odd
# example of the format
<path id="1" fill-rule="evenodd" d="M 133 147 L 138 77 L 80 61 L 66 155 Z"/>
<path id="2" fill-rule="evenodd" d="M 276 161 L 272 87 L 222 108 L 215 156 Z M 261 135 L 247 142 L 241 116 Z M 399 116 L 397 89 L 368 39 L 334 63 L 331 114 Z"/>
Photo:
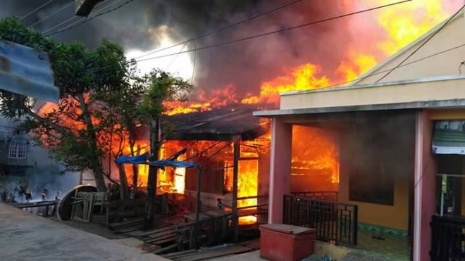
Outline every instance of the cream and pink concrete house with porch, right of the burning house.
<path id="1" fill-rule="evenodd" d="M 279 110 L 254 113 L 273 120 L 268 222 L 352 246 L 366 228 L 373 241 L 403 234 L 411 260 L 465 257 L 464 14 L 443 25 L 347 87 L 281 94 Z M 333 137 L 334 198 L 294 193 L 297 127 Z"/>

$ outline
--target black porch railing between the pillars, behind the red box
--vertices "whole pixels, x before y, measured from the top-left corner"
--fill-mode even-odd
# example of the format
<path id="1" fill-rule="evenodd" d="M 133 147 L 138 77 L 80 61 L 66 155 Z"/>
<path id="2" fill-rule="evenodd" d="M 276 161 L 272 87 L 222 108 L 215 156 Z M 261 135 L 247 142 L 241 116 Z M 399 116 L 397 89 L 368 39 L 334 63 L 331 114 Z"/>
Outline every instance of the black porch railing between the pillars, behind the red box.
<path id="1" fill-rule="evenodd" d="M 358 206 L 302 196 L 284 196 L 283 223 L 315 229 L 318 240 L 356 245 Z"/>

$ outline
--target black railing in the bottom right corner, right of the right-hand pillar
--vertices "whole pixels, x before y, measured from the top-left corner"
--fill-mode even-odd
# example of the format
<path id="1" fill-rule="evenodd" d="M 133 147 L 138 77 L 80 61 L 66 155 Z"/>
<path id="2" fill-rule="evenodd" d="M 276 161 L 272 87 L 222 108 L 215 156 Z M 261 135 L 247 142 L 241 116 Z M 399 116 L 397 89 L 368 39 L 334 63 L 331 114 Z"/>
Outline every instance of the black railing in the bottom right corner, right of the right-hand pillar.
<path id="1" fill-rule="evenodd" d="M 465 260 L 465 219 L 434 215 L 431 219 L 431 260 Z"/>

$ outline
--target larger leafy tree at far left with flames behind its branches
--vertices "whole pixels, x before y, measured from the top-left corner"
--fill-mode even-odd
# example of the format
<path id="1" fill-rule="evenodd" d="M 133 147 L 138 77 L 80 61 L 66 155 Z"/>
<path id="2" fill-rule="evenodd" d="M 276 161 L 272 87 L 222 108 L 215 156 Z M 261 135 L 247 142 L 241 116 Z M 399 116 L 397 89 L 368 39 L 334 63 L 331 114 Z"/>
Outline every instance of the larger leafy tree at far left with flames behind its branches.
<path id="1" fill-rule="evenodd" d="M 109 126 L 92 94 L 117 93 L 127 87 L 129 63 L 123 49 L 106 41 L 94 51 L 80 43 L 56 42 L 28 29 L 18 18 L 0 20 L 0 39 L 49 53 L 61 95 L 58 105 L 35 110 L 37 102 L 32 98 L 0 91 L 1 115 L 21 118 L 21 127 L 35 134 L 35 141 L 46 145 L 65 171 L 92 170 L 97 189 L 105 191 L 104 177 L 111 180 L 102 167 L 109 148 L 104 139 Z"/>

